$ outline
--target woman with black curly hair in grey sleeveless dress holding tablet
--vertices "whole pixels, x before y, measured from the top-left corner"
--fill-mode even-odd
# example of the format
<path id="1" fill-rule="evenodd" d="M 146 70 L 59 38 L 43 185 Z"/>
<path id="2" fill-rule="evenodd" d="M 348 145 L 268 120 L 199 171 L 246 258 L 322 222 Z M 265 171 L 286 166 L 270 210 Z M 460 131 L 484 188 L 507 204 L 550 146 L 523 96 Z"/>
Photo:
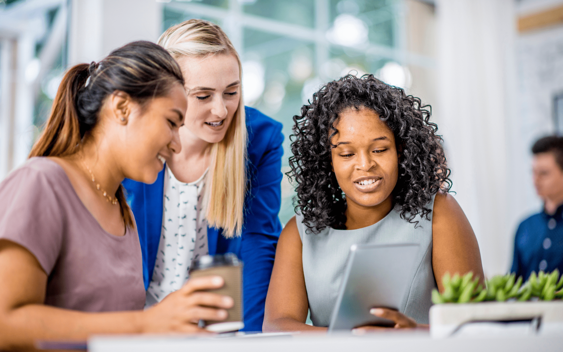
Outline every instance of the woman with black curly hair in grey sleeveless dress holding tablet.
<path id="1" fill-rule="evenodd" d="M 347 75 L 293 117 L 297 215 L 276 249 L 264 331 L 326 329 L 352 244 L 419 244 L 399 311 L 370 310 L 395 328 L 428 323 L 431 291 L 443 290 L 446 272 L 472 271 L 482 282 L 479 246 L 448 194 L 450 170 L 426 107 L 373 75 Z"/>

